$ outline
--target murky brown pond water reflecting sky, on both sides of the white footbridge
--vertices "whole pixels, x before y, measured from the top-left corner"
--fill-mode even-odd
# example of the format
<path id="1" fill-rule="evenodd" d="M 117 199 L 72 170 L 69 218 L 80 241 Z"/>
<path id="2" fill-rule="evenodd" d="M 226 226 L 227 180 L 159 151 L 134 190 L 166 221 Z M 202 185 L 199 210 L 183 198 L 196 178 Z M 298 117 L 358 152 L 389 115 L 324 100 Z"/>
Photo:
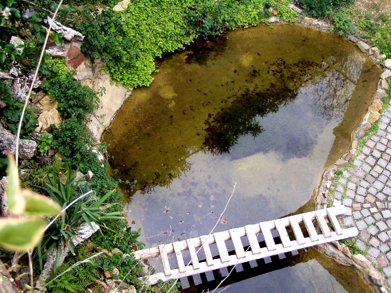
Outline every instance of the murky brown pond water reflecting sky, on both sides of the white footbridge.
<path id="1" fill-rule="evenodd" d="M 105 133 L 146 247 L 208 234 L 231 195 L 215 232 L 313 210 L 324 169 L 348 151 L 380 69 L 342 38 L 273 26 L 164 57 Z M 315 249 L 299 256 L 226 291 L 371 291 Z"/>

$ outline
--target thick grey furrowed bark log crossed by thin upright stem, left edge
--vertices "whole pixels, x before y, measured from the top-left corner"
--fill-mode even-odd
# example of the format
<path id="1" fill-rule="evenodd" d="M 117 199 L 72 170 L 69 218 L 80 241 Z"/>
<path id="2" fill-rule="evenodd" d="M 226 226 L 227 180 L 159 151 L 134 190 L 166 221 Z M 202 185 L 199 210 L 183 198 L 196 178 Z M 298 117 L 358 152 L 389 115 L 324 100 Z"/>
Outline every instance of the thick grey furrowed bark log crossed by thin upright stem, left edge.
<path id="1" fill-rule="evenodd" d="M 0 125 L 0 151 L 6 155 L 10 151 L 13 155 L 16 152 L 16 135 L 8 132 Z M 30 160 L 37 151 L 37 144 L 30 139 L 19 140 L 19 158 Z"/>

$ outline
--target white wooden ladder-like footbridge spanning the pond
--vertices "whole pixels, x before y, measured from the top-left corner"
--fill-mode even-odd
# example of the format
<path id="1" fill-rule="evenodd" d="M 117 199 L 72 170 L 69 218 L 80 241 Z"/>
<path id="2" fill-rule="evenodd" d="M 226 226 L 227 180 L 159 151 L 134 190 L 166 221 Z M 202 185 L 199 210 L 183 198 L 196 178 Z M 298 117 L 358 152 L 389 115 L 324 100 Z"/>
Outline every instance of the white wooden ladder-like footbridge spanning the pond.
<path id="1" fill-rule="evenodd" d="M 310 246 L 355 237 L 358 235 L 356 227 L 342 229 L 338 222 L 337 216 L 345 212 L 345 206 L 337 205 L 274 221 L 261 222 L 138 250 L 134 252 L 134 256 L 136 259 L 159 257 L 159 260 L 162 261 L 163 272 L 144 277 L 146 283 L 154 285 L 158 280 L 165 282 L 179 279 L 233 266 L 237 263 L 258 260 Z M 278 235 L 281 243 L 276 243 L 273 234 Z M 241 237 L 247 237 L 248 243 L 250 243 L 246 251 Z M 263 239 L 264 247 L 260 245 L 260 239 Z M 232 242 L 234 254 L 230 255 L 228 253 L 226 241 Z M 216 245 L 218 250 L 218 255 L 214 257 L 211 251 L 212 245 Z M 190 253 L 191 260 L 188 263 L 184 261 L 185 252 Z M 172 254 L 175 255 L 175 258 L 172 257 Z M 205 260 L 199 260 L 201 255 L 205 257 Z M 176 260 L 175 265 L 172 265 L 172 267 L 169 258 L 171 259 L 171 264 Z"/>

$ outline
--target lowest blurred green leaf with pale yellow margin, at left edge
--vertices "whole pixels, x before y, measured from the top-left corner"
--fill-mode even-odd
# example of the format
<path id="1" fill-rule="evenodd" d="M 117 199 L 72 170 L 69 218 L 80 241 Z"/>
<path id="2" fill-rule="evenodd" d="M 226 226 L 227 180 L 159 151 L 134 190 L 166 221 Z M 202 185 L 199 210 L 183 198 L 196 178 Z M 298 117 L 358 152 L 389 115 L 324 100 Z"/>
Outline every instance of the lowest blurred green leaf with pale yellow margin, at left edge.
<path id="1" fill-rule="evenodd" d="M 32 250 L 41 241 L 45 224 L 36 218 L 1 218 L 0 245 L 11 251 Z"/>

